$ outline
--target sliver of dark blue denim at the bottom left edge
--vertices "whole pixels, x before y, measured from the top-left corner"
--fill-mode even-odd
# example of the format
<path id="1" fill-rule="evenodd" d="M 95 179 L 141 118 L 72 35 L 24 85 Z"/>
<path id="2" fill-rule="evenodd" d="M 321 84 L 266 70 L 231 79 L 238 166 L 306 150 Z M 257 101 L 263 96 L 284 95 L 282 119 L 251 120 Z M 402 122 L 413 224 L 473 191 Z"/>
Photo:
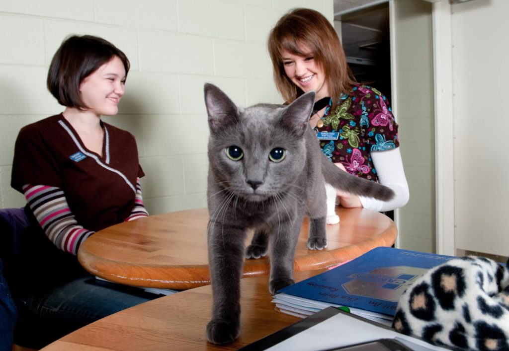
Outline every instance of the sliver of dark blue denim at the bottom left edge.
<path id="1" fill-rule="evenodd" d="M 11 351 L 17 315 L 16 305 L 2 272 L 3 263 L 0 259 L 0 351 Z"/>

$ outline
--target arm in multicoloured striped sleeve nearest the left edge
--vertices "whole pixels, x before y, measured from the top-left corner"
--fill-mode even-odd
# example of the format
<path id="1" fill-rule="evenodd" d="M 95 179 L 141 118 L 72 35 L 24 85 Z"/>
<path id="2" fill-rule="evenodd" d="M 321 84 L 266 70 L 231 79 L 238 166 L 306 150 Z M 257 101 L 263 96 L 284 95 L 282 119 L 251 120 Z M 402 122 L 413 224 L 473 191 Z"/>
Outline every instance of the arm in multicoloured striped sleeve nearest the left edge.
<path id="1" fill-rule="evenodd" d="M 79 245 L 95 231 L 78 225 L 64 191 L 57 187 L 29 184 L 22 189 L 30 209 L 49 240 L 59 249 L 76 255 Z"/>

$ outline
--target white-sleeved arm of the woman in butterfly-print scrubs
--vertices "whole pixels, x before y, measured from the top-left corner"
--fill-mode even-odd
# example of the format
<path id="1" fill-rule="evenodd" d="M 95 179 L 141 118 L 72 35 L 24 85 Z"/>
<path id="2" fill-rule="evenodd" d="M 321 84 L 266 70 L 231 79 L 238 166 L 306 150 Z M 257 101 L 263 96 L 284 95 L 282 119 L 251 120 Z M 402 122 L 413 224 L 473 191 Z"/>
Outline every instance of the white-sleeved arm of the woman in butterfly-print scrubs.
<path id="1" fill-rule="evenodd" d="M 371 153 L 371 159 L 377 170 L 378 181 L 394 191 L 394 198 L 389 201 L 382 201 L 372 197 L 356 196 L 338 191 L 337 195 L 340 197 L 342 206 L 363 207 L 374 211 L 391 211 L 405 206 L 410 193 L 400 149 L 374 151 Z"/>

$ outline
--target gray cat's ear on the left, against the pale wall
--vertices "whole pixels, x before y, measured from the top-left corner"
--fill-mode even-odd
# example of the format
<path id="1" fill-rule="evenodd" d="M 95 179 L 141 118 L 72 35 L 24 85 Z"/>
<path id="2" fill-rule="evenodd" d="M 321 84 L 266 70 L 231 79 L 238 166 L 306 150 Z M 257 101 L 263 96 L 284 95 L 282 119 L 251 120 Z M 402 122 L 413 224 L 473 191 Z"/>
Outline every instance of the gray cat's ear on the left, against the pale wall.
<path id="1" fill-rule="evenodd" d="M 209 128 L 212 132 L 237 122 L 237 106 L 226 94 L 210 83 L 205 83 L 204 92 Z"/>

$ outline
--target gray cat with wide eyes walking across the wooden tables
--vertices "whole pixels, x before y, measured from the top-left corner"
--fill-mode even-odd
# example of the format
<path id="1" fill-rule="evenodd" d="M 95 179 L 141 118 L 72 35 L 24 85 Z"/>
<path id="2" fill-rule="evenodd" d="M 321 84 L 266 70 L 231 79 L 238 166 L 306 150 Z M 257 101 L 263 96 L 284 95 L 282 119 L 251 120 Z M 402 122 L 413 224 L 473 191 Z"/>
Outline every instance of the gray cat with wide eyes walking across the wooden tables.
<path id="1" fill-rule="evenodd" d="M 315 93 L 289 106 L 237 107 L 218 87 L 205 84 L 209 116 L 210 220 L 208 248 L 212 320 L 207 338 L 221 344 L 240 334 L 240 278 L 244 257 L 264 256 L 270 241 L 270 294 L 293 284 L 293 257 L 304 215 L 307 247 L 327 246 L 325 181 L 353 194 L 388 200 L 392 190 L 332 164 L 308 126 Z M 244 250 L 246 231 L 254 229 Z"/>

